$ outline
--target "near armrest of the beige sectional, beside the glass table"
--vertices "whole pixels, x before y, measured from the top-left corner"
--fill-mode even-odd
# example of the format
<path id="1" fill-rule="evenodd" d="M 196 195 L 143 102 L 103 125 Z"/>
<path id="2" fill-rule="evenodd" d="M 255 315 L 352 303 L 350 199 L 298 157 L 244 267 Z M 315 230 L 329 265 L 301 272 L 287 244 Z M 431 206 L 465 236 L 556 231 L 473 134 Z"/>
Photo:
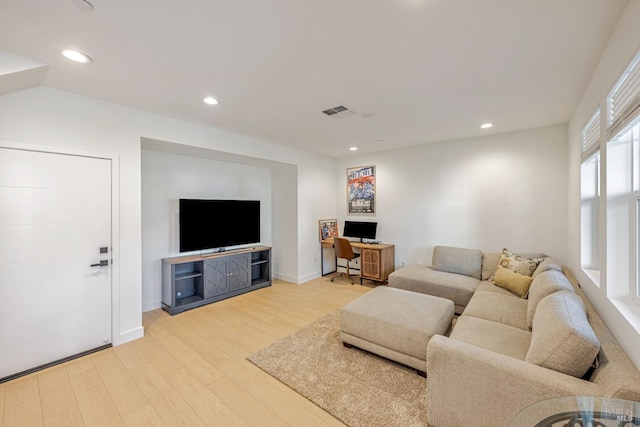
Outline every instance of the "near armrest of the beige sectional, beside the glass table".
<path id="1" fill-rule="evenodd" d="M 427 387 L 435 427 L 506 426 L 543 399 L 603 395 L 597 384 L 441 335 L 427 346 Z"/>

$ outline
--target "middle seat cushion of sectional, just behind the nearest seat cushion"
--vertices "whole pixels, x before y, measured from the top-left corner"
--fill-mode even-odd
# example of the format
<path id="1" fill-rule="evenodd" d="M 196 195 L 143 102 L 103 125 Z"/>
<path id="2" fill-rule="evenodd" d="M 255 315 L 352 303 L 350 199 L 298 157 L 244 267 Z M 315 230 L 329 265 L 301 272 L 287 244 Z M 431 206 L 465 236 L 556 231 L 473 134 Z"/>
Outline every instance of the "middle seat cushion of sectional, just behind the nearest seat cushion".
<path id="1" fill-rule="evenodd" d="M 462 316 L 491 320 L 529 331 L 527 301 L 513 296 L 476 291 Z"/>

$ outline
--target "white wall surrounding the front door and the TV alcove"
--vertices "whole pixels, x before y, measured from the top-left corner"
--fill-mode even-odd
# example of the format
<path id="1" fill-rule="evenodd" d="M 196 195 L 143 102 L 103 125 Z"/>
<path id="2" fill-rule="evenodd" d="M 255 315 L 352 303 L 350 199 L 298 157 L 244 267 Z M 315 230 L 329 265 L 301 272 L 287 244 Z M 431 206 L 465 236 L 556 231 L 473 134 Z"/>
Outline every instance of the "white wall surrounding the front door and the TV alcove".
<path id="1" fill-rule="evenodd" d="M 282 210 L 296 219 L 274 222 L 286 227 L 272 228 L 273 235 L 284 236 L 279 237 L 284 247 L 274 251 L 284 251 L 285 255 L 277 255 L 280 266 L 296 281 L 312 274 L 314 269 L 319 272 L 313 256 L 314 250 L 319 253 L 317 220 L 327 216 L 327 205 L 335 207 L 335 160 L 48 87 L 2 95 L 0 139 L 118 158 L 120 248 L 114 259 L 119 265 L 118 277 L 114 277 L 114 291 L 118 294 L 114 313 L 119 326 L 114 330 L 115 345 L 143 332 L 140 144 L 144 138 L 293 165 L 297 174 L 283 172 L 279 179 L 287 176 L 297 184 L 272 188 L 272 193 L 278 193 L 278 200 L 283 204 L 274 206 L 274 216 Z M 310 184 L 312 187 L 304 187 Z M 297 194 L 287 194 L 288 191 L 297 191 Z M 298 209 L 295 203 L 300 195 L 304 196 L 306 205 Z M 333 213 L 334 208 L 330 212 Z M 300 256 L 288 256 L 292 252 Z"/>

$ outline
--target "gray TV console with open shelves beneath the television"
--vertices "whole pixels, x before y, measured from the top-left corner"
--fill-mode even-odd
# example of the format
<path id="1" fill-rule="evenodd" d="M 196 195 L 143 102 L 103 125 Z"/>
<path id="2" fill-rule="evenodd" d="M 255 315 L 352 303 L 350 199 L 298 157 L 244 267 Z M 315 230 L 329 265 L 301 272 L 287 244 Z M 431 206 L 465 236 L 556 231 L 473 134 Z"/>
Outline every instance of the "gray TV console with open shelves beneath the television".
<path id="1" fill-rule="evenodd" d="M 271 248 L 162 260 L 162 308 L 170 314 L 271 285 Z"/>

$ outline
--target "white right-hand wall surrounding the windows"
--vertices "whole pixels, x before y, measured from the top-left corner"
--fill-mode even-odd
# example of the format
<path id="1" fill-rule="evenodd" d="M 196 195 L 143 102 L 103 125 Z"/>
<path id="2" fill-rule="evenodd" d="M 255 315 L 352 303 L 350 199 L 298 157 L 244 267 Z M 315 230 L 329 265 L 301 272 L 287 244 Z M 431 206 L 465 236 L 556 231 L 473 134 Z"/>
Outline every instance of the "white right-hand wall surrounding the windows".
<path id="1" fill-rule="evenodd" d="M 580 268 L 580 132 L 598 106 L 601 108 L 600 116 L 604 120 L 606 96 L 640 48 L 638 22 L 640 22 L 640 1 L 630 1 L 569 122 L 568 241 L 569 267 L 616 339 L 625 348 L 635 365 L 640 368 L 640 352 L 638 352 L 640 333 L 607 298 L 606 283 L 603 282 L 601 287 L 596 286 Z M 601 127 L 605 132 L 604 123 Z M 602 239 L 601 253 L 605 252 L 606 245 L 606 241 Z M 605 266 L 601 263 L 601 277 L 606 276 Z M 640 314 L 637 311 L 636 308 L 630 314 L 640 320 Z"/>

